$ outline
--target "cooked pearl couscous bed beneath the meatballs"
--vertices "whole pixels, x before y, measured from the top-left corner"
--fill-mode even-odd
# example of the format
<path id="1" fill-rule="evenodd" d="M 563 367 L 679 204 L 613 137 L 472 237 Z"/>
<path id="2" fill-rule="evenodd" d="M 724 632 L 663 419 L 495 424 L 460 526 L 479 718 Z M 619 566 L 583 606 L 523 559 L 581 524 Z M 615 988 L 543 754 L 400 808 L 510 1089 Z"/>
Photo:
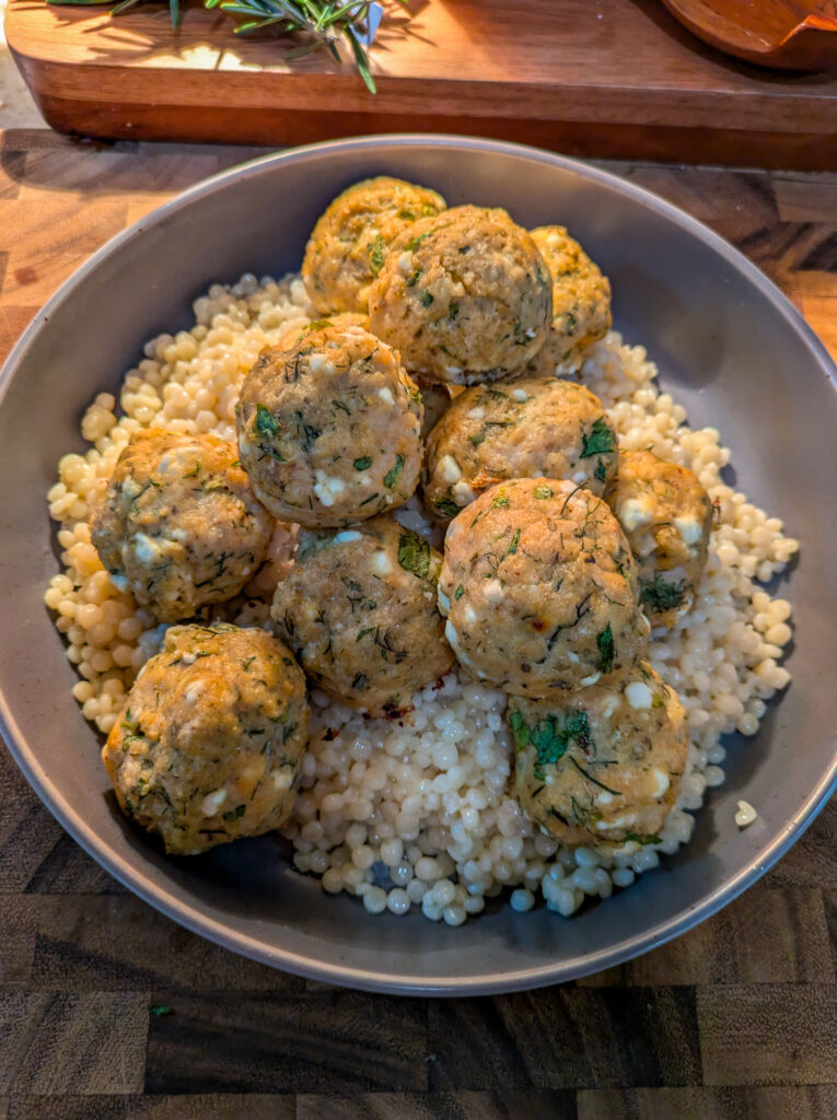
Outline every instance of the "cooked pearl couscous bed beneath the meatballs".
<path id="1" fill-rule="evenodd" d="M 165 625 L 120 590 L 91 543 L 96 496 L 106 488 L 131 436 L 157 427 L 235 438 L 235 404 L 245 373 L 264 346 L 300 330 L 317 312 L 298 277 L 244 276 L 214 284 L 194 305 L 195 325 L 146 345 L 119 400 L 95 398 L 82 420 L 92 445 L 66 455 L 48 494 L 59 523 L 62 571 L 45 595 L 66 654 L 77 666 L 73 693 L 86 719 L 108 735 L 142 665 L 160 651 Z M 685 410 L 657 385 L 645 351 L 611 333 L 586 352 L 578 377 L 602 401 L 621 448 L 650 449 L 690 467 L 714 507 L 706 569 L 694 607 L 671 629 L 651 634 L 648 661 L 677 690 L 689 731 L 677 803 L 653 843 L 594 850 L 541 832 L 515 801 L 506 694 L 462 670 L 424 687 L 398 720 L 370 719 L 315 688 L 307 752 L 292 815 L 283 828 L 299 871 L 320 877 L 328 894 L 356 895 L 371 914 L 419 907 L 431 921 L 462 924 L 487 898 L 511 888 L 510 905 L 531 909 L 542 897 L 564 915 L 586 896 L 606 898 L 655 867 L 692 831 L 690 811 L 724 781 L 720 737 L 752 736 L 766 702 L 788 681 L 780 665 L 791 638 L 791 607 L 759 587 L 798 549 L 782 523 L 720 476 L 729 452 L 712 429 L 692 430 Z M 421 531 L 420 507 L 399 511 Z M 271 628 L 269 606 L 295 547 L 294 526 L 278 523 L 267 560 L 245 594 L 208 608 L 213 620 Z"/>

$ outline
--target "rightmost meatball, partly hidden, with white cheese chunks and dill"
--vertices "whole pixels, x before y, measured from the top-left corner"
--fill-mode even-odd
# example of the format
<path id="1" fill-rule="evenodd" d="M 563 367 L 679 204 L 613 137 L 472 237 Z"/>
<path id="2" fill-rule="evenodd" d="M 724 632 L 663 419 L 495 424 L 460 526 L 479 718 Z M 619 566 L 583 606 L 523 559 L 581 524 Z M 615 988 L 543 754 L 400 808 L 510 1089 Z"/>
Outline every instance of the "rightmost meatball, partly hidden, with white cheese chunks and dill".
<path id="1" fill-rule="evenodd" d="M 605 500 L 634 554 L 649 622 L 673 626 L 691 608 L 706 567 L 709 495 L 688 467 L 651 451 L 624 451 Z"/>

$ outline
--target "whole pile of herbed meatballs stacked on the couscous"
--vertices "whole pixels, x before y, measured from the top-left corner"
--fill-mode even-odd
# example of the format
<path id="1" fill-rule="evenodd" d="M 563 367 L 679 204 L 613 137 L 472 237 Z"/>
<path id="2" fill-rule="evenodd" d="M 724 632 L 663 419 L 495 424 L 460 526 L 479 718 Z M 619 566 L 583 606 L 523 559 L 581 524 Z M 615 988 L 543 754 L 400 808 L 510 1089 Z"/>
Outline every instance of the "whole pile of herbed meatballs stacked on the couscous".
<path id="1" fill-rule="evenodd" d="M 532 821 L 569 843 L 655 842 L 688 736 L 644 660 L 650 624 L 688 610 L 712 508 L 690 470 L 620 455 L 601 401 L 556 380 L 610 327 L 606 278 L 561 226 L 391 178 L 332 203 L 303 276 L 322 318 L 250 370 L 238 447 L 138 433 L 96 511 L 111 579 L 183 624 L 104 748 L 120 804 L 169 852 L 276 829 L 306 678 L 397 719 L 457 661 L 510 696 Z M 444 552 L 396 515 L 419 487 Z M 273 633 L 210 622 L 273 519 L 301 526 Z"/>

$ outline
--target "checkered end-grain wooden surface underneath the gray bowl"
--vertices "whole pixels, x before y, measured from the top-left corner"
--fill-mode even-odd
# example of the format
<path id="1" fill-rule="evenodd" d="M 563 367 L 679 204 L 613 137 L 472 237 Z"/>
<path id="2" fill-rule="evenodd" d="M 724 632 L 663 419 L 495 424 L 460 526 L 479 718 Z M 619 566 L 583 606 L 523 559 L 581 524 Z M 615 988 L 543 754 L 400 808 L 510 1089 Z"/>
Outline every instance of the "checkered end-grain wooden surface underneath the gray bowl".
<path id="1" fill-rule="evenodd" d="M 0 134 L 0 357 L 102 242 L 252 155 Z M 736 242 L 837 355 L 837 176 L 612 167 Z M 672 944 L 454 1000 L 342 991 L 187 933 L 63 832 L 4 749 L 0 804 L 0 1120 L 837 1116 L 835 803 Z"/>

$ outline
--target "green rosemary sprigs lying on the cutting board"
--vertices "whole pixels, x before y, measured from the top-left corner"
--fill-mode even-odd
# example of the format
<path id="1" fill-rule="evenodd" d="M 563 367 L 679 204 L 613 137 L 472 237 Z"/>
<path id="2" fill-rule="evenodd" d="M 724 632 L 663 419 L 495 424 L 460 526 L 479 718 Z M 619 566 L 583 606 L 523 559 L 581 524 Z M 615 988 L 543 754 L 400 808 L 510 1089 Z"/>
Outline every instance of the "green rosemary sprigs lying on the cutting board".
<path id="1" fill-rule="evenodd" d="M 113 0 L 47 0 L 67 6 L 102 6 Z M 121 16 L 149 0 L 119 0 L 111 16 Z M 408 0 L 399 0 L 404 6 Z M 180 21 L 180 0 L 168 0 L 171 26 Z M 357 72 L 370 93 L 376 93 L 369 66 L 366 47 L 374 37 L 381 17 L 376 0 L 204 0 L 205 8 L 218 8 L 227 16 L 241 17 L 238 35 L 250 35 L 267 27 L 277 27 L 282 35 L 301 32 L 310 41 L 287 53 L 287 58 L 301 58 L 325 48 L 335 62 L 342 63 L 341 39 L 348 44 Z"/>

